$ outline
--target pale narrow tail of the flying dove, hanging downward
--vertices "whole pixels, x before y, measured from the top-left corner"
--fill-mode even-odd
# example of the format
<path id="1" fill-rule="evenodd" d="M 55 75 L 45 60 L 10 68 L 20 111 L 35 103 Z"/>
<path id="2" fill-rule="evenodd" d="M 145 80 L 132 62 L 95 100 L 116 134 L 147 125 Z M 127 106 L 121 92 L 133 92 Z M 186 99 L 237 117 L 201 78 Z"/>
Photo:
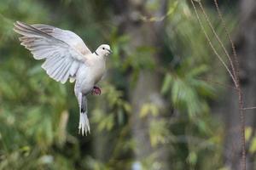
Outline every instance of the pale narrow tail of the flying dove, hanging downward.
<path id="1" fill-rule="evenodd" d="M 85 135 L 87 135 L 87 132 L 90 133 L 90 123 L 87 117 L 87 99 L 83 94 L 79 95 L 79 110 L 79 133 L 82 133 L 84 136 L 84 133 Z"/>

